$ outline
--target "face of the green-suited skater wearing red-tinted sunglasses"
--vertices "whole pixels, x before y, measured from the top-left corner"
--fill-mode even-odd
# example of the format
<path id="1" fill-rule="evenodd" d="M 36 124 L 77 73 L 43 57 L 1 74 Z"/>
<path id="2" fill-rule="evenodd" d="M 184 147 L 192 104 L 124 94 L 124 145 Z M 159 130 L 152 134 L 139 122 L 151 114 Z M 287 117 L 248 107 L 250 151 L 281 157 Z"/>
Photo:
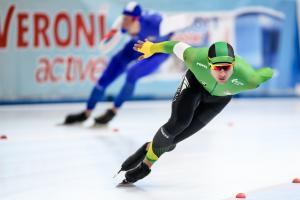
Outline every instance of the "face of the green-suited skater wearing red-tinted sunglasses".
<path id="1" fill-rule="evenodd" d="M 228 81 L 233 73 L 233 64 L 231 63 L 218 63 L 210 64 L 211 75 L 220 84 Z"/>

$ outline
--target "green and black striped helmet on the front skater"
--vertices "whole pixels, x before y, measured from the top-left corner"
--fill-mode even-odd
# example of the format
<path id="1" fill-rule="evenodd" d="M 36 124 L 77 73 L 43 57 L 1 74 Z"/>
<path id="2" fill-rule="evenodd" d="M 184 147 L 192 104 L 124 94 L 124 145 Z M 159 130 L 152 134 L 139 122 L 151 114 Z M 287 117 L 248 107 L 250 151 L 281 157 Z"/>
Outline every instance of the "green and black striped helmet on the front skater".
<path id="1" fill-rule="evenodd" d="M 233 48 L 227 42 L 216 42 L 208 49 L 209 63 L 233 63 L 234 59 Z"/>

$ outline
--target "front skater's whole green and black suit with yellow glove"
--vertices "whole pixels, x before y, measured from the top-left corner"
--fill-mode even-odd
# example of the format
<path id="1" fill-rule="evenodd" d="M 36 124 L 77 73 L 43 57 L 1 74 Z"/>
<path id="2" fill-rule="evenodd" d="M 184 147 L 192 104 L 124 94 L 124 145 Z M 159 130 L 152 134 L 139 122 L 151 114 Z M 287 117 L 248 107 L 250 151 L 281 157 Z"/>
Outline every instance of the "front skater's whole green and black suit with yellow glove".
<path id="1" fill-rule="evenodd" d="M 140 52 L 144 57 L 154 53 L 174 53 L 184 61 L 188 71 L 172 103 L 172 114 L 159 128 L 146 158 L 154 163 L 164 152 L 203 128 L 231 100 L 232 95 L 257 88 L 273 75 L 271 68 L 254 69 L 240 56 L 235 56 L 233 74 L 219 84 L 212 77 L 208 48 L 194 48 L 182 42 L 145 42 Z"/>

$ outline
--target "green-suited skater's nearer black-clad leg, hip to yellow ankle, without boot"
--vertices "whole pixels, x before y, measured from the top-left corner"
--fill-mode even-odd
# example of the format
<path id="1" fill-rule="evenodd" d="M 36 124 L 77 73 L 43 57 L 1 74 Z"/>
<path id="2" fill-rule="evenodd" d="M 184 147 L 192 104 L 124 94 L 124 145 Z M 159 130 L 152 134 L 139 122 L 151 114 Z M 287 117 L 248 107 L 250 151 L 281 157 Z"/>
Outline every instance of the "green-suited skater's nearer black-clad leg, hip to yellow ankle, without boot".
<path id="1" fill-rule="evenodd" d="M 202 88 L 202 87 L 201 87 Z M 155 134 L 145 159 L 151 166 L 163 153 L 175 148 L 175 137 L 190 126 L 202 102 L 203 91 L 195 76 L 188 71 L 174 96 L 171 117 Z"/>

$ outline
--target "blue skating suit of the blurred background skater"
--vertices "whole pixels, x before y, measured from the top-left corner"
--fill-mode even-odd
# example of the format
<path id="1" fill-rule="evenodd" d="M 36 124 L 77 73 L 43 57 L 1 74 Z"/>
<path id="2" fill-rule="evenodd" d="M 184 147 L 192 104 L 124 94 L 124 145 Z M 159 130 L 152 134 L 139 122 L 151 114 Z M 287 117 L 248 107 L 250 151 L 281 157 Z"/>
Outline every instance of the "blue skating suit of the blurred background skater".
<path id="1" fill-rule="evenodd" d="M 144 40 L 148 38 L 153 42 L 161 42 L 169 40 L 173 33 L 169 33 L 164 36 L 160 36 L 160 23 L 162 16 L 158 13 L 145 12 L 140 17 L 141 31 L 123 47 L 117 54 L 115 54 L 102 76 L 97 81 L 97 84 L 92 90 L 92 93 L 87 102 L 87 109 L 93 110 L 97 102 L 103 97 L 105 89 L 109 84 L 118 78 L 123 72 L 126 72 L 126 81 L 117 95 L 114 106 L 119 108 L 122 104 L 129 99 L 135 88 L 136 82 L 153 72 L 155 72 L 160 64 L 165 61 L 169 54 L 155 54 L 154 56 L 138 61 L 127 70 L 129 63 L 137 61 L 137 58 L 141 56 L 139 52 L 133 50 L 133 45 L 138 40 Z"/>

